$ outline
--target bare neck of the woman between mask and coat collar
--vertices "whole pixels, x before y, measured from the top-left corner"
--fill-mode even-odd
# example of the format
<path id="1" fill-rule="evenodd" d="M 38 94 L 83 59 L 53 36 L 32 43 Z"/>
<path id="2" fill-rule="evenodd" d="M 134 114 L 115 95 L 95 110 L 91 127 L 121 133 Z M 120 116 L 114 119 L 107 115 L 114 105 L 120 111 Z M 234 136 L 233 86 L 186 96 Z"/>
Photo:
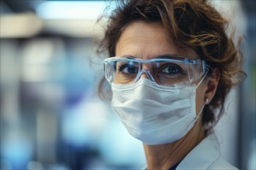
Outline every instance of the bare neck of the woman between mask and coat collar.
<path id="1" fill-rule="evenodd" d="M 164 145 L 146 145 L 144 151 L 147 159 L 147 169 L 168 169 L 181 162 L 185 155 L 195 148 L 205 138 L 200 121 L 185 137 L 174 143 Z"/>

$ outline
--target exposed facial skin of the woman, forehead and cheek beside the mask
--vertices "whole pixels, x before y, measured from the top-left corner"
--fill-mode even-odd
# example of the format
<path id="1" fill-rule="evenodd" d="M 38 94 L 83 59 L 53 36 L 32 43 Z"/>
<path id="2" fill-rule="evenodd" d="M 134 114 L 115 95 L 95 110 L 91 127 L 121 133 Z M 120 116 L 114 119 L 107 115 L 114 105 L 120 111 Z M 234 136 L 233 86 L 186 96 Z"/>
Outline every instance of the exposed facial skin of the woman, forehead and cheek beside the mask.
<path id="1" fill-rule="evenodd" d="M 116 44 L 116 56 L 134 56 L 140 59 L 152 59 L 162 55 L 185 56 L 198 59 L 193 49 L 177 46 L 158 22 L 133 22 L 124 29 Z M 147 77 L 146 75 L 143 75 Z M 207 85 L 201 83 L 196 91 L 196 113 L 205 103 Z"/>

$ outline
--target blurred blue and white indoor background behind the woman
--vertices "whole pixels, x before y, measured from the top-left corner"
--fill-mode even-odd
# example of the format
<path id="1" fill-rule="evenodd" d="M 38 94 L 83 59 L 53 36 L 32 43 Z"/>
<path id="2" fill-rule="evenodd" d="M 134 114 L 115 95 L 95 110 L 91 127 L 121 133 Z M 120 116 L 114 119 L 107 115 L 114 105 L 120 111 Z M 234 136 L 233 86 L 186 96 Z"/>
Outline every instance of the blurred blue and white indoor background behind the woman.
<path id="1" fill-rule="evenodd" d="M 211 1 L 247 37 L 247 80 L 216 126 L 223 156 L 255 169 L 256 1 Z M 96 95 L 95 25 L 108 1 L 2 0 L 1 169 L 141 169 L 143 146 Z M 112 4 L 111 8 L 114 7 Z M 111 10 L 109 8 L 109 11 Z M 92 60 L 92 61 L 90 61 Z"/>

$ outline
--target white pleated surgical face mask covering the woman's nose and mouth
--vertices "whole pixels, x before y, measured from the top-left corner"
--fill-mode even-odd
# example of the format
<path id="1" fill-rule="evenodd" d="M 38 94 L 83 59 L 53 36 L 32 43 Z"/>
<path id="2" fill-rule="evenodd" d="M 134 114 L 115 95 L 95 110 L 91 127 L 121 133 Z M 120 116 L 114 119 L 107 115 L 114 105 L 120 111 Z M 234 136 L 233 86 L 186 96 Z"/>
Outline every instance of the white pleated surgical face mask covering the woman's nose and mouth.
<path id="1" fill-rule="evenodd" d="M 199 117 L 195 90 L 202 80 L 182 89 L 157 86 L 147 79 L 132 87 L 112 86 L 112 110 L 134 138 L 147 145 L 171 143 L 185 136 Z"/>

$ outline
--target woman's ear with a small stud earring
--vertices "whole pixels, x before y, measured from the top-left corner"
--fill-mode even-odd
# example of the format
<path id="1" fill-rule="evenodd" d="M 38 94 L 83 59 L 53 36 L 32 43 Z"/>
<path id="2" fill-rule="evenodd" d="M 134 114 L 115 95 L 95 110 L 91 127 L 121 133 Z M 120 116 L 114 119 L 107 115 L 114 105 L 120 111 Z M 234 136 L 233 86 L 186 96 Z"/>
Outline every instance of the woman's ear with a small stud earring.
<path id="1" fill-rule="evenodd" d="M 219 81 L 220 81 L 220 70 L 215 68 L 212 70 L 211 75 L 207 76 L 207 81 L 206 81 L 207 87 L 206 87 L 205 99 L 208 99 L 209 102 L 213 99 L 214 94 L 216 93 L 216 89 L 218 87 Z"/>

